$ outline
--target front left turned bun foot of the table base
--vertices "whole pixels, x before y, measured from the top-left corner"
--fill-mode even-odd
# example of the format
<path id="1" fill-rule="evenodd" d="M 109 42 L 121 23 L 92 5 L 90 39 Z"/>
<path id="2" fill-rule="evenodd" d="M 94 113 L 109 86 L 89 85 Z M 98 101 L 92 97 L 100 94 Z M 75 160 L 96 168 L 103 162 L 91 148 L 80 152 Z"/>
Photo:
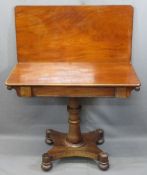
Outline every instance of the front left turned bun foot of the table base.
<path id="1" fill-rule="evenodd" d="M 52 168 L 53 164 L 51 162 L 51 157 L 48 155 L 48 153 L 44 153 L 42 155 L 42 164 L 41 168 L 43 171 L 49 171 Z"/>

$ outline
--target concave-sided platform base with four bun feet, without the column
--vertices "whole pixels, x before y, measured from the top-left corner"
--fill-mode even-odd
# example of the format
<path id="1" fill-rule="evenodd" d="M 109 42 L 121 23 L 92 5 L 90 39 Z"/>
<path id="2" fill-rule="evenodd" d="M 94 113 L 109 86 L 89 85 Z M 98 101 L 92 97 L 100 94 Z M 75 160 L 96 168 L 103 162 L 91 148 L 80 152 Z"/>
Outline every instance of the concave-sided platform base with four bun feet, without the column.
<path id="1" fill-rule="evenodd" d="M 97 147 L 99 141 L 104 140 L 103 130 L 97 129 L 83 133 L 83 141 L 79 144 L 67 142 L 67 134 L 55 130 L 46 130 L 46 143 L 53 144 L 53 147 L 42 156 L 42 169 L 50 170 L 52 161 L 66 157 L 86 157 L 98 161 L 102 170 L 109 168 L 108 155 Z"/>

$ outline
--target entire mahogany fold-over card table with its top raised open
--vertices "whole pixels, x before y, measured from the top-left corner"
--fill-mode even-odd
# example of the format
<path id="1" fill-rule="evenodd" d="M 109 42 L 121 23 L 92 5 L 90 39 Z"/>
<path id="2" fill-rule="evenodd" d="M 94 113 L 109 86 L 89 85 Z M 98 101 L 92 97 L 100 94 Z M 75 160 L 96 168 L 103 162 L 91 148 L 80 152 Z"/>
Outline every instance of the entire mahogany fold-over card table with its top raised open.
<path id="1" fill-rule="evenodd" d="M 78 99 L 127 98 L 139 89 L 131 64 L 133 7 L 18 6 L 15 14 L 18 63 L 6 80 L 8 89 L 21 97 L 69 98 L 69 131 L 46 130 L 53 148 L 42 155 L 42 169 L 74 156 L 108 169 L 108 154 L 97 147 L 104 131 L 81 133 Z"/>

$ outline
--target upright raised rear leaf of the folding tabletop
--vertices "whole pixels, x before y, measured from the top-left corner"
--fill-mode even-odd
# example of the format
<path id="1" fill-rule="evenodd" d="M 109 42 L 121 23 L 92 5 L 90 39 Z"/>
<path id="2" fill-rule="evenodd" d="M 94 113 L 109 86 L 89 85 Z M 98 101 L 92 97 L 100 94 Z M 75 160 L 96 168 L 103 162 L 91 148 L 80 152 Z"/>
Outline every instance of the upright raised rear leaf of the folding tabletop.
<path id="1" fill-rule="evenodd" d="M 19 62 L 130 62 L 131 6 L 18 6 Z"/>

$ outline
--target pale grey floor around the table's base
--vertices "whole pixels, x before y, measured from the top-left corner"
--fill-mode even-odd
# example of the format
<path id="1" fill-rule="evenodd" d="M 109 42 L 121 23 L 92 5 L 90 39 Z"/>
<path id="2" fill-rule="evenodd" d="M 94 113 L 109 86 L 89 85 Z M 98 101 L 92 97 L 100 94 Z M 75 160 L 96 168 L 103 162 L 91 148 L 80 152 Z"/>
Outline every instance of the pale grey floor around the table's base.
<path id="1" fill-rule="evenodd" d="M 144 143 L 144 146 L 142 146 Z M 49 149 L 42 137 L 1 136 L 0 175 L 45 175 L 40 168 L 41 154 Z M 124 143 L 124 144 L 122 144 Z M 53 162 L 50 175 L 146 175 L 147 142 L 141 140 L 107 140 L 101 146 L 109 152 L 110 169 L 99 170 L 96 162 L 84 158 L 67 158 Z M 139 156 L 140 155 L 140 156 Z"/>

